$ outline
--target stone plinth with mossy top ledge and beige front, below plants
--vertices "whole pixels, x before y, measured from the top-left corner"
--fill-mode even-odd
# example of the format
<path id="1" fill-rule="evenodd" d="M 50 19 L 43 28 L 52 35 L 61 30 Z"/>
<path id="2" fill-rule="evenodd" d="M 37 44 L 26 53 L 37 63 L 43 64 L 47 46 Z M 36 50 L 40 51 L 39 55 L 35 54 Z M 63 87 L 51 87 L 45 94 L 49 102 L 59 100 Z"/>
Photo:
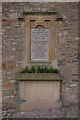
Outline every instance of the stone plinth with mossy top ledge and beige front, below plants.
<path id="1" fill-rule="evenodd" d="M 18 80 L 19 111 L 54 109 L 61 107 L 59 73 L 21 73 Z"/>

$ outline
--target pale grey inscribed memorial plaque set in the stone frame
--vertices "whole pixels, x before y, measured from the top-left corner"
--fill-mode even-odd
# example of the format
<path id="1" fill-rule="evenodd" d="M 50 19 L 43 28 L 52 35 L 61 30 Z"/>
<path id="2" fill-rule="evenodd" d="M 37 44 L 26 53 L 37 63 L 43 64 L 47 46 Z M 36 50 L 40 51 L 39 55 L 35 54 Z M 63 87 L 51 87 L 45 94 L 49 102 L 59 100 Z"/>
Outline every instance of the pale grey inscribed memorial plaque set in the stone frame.
<path id="1" fill-rule="evenodd" d="M 31 29 L 31 60 L 47 61 L 49 52 L 49 29 Z"/>

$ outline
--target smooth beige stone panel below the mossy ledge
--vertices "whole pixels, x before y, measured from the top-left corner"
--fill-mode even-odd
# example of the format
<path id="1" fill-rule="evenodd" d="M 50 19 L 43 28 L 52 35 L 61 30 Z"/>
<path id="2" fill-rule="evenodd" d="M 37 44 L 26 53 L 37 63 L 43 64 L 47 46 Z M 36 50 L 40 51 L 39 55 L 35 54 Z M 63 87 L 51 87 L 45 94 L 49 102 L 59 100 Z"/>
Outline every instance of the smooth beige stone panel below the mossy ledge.
<path id="1" fill-rule="evenodd" d="M 60 101 L 60 81 L 44 79 L 43 81 L 19 81 L 19 96 L 20 99 L 16 100 L 20 103 L 19 106 L 16 106 L 19 111 L 60 109 L 62 107 L 58 102 Z"/>

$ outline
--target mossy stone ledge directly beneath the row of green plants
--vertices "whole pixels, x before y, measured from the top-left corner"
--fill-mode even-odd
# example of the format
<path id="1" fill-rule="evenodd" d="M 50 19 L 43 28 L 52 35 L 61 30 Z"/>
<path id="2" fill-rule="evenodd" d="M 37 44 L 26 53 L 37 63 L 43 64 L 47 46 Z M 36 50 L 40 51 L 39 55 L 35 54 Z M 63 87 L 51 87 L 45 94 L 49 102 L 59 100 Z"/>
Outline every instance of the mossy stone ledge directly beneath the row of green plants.
<path id="1" fill-rule="evenodd" d="M 62 81 L 62 76 L 60 73 L 17 73 L 15 77 L 16 80 L 26 81 Z"/>

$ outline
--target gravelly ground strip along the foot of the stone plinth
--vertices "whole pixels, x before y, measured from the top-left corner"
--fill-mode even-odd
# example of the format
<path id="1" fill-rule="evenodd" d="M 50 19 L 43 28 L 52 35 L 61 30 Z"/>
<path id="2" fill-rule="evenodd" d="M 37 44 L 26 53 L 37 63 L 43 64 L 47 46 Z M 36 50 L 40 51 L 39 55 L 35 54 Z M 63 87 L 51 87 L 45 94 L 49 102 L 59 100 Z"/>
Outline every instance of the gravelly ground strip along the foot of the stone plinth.
<path id="1" fill-rule="evenodd" d="M 3 118 L 63 118 L 63 111 L 52 109 L 30 112 L 3 111 Z"/>

